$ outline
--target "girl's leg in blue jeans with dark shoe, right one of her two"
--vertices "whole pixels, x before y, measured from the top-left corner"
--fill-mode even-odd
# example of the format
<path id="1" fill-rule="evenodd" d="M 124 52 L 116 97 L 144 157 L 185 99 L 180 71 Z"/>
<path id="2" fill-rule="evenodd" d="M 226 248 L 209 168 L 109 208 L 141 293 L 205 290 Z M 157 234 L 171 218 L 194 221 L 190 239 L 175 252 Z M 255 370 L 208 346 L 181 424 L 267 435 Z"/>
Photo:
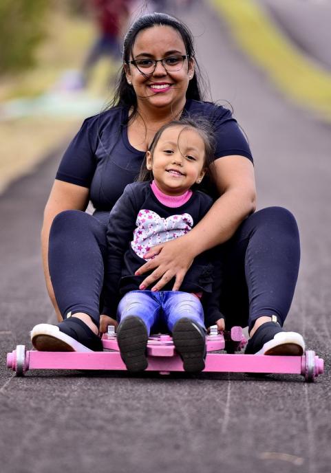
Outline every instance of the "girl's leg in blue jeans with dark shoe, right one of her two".
<path id="1" fill-rule="evenodd" d="M 204 311 L 197 296 L 186 292 L 162 292 L 163 316 L 173 335 L 175 349 L 185 371 L 204 369 L 206 330 Z"/>

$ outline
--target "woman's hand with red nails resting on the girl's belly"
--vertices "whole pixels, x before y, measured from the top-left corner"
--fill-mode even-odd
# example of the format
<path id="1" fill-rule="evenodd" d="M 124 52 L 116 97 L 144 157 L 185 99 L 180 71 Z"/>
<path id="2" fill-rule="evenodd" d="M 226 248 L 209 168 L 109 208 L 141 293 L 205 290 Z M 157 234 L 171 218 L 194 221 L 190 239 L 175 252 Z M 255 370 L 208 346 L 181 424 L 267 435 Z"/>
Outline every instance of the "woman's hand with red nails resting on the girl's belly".
<path id="1" fill-rule="evenodd" d="M 158 281 L 155 286 L 151 287 L 151 291 L 160 291 L 164 285 L 175 277 L 175 284 L 172 290 L 178 291 L 186 272 L 193 263 L 195 254 L 190 252 L 186 239 L 177 238 L 167 241 L 167 243 L 153 246 L 144 255 L 144 258 L 149 259 L 149 261 L 136 271 L 136 276 L 140 276 L 140 274 L 144 274 L 147 271 L 154 271 L 142 281 L 139 289 L 146 289 L 155 281 Z"/>

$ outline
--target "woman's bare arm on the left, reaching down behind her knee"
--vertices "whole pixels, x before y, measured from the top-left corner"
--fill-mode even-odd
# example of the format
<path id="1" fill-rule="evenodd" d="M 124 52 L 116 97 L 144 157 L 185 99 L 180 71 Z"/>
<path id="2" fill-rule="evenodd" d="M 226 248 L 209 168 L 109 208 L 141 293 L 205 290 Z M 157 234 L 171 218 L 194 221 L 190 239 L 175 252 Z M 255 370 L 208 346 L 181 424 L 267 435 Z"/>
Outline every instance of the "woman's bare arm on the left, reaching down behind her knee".
<path id="1" fill-rule="evenodd" d="M 48 239 L 50 236 L 50 227 L 54 217 L 63 210 L 85 210 L 89 203 L 89 189 L 76 186 L 64 181 L 54 181 L 50 197 L 45 206 L 43 227 L 41 229 L 41 253 L 43 257 L 43 271 L 45 274 L 45 283 L 48 295 L 54 305 L 58 321 L 61 322 L 62 316 L 56 305 L 50 273 L 48 271 Z"/>

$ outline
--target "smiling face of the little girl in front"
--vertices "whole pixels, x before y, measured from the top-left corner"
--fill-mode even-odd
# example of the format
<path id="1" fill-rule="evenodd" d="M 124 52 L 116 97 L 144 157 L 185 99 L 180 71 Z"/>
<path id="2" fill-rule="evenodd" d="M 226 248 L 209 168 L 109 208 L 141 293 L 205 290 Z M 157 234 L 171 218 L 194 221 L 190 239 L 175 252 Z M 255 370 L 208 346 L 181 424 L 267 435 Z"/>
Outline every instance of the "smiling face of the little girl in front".
<path id="1" fill-rule="evenodd" d="M 147 169 L 156 185 L 167 195 L 182 195 L 200 184 L 206 173 L 204 142 L 199 133 L 186 126 L 170 126 L 160 136 L 153 151 L 147 151 Z"/>

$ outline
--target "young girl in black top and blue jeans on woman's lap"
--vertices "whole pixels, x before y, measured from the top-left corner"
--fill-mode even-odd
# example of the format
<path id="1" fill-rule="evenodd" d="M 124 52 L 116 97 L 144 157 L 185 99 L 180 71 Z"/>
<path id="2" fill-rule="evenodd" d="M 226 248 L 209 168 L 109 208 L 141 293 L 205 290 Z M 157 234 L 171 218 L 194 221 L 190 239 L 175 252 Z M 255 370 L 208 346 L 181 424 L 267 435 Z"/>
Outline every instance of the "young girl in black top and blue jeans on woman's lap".
<path id="1" fill-rule="evenodd" d="M 204 369 L 205 322 L 209 326 L 222 318 L 220 274 L 213 285 L 218 268 L 211 264 L 211 252 L 195 259 L 180 291 L 171 291 L 174 281 L 160 292 L 144 287 L 146 276 L 137 270 L 153 245 L 189 232 L 209 210 L 211 197 L 192 187 L 200 184 L 212 159 L 213 137 L 203 120 L 162 126 L 147 151 L 143 181 L 129 184 L 111 211 L 103 314 L 119 322 L 118 345 L 129 371 L 147 368 L 149 333 L 164 330 L 172 333 L 185 371 Z"/>

